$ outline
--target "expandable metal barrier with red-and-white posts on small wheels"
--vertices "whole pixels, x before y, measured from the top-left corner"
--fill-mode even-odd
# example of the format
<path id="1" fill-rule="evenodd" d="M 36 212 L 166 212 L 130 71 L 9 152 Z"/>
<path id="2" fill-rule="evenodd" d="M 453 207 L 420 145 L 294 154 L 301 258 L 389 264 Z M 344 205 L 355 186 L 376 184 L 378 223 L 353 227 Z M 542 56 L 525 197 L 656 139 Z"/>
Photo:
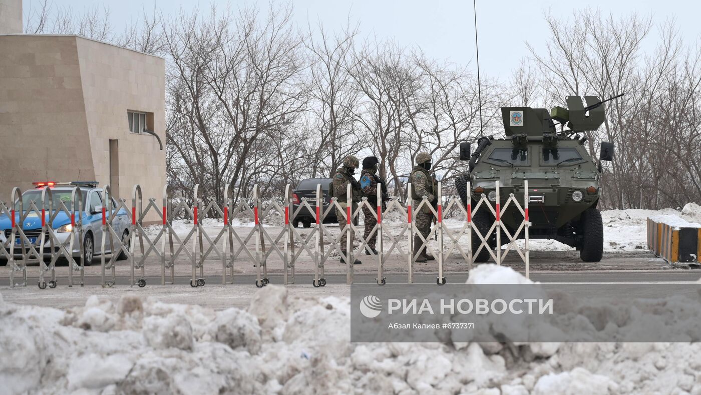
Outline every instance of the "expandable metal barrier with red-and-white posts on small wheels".
<path id="1" fill-rule="evenodd" d="M 262 205 L 260 188 L 257 185 L 253 188 L 252 200 L 247 201 L 241 199 L 236 207 L 233 206 L 231 184 L 224 188 L 225 202 L 224 205 L 222 205 L 223 207 L 219 207 L 215 200 L 205 202 L 203 197 L 200 196 L 199 185 L 196 185 L 194 188 L 193 196 L 195 197 L 195 201 L 192 206 L 187 205 L 182 199 L 177 200 L 177 203 L 174 205 L 173 199 L 170 196 L 170 189 L 168 186 L 165 186 L 163 188 L 162 206 L 158 207 L 158 205 L 156 205 L 156 200 L 150 198 L 145 208 L 143 205 L 142 190 L 139 185 L 135 185 L 133 188 L 131 207 L 126 205 L 124 199 L 118 200 L 117 206 L 113 207 L 110 187 L 104 186 L 104 195 L 107 203 L 102 208 L 103 237 L 101 251 L 105 251 L 105 248 L 109 245 L 109 250 L 112 252 L 111 254 L 101 254 L 102 286 L 114 286 L 116 282 L 116 260 L 120 254 L 124 254 L 128 259 L 130 265 L 130 284 L 132 286 L 146 286 L 147 276 L 145 266 L 147 264 L 147 258 L 151 255 L 158 257 L 158 261 L 160 261 L 161 284 L 174 284 L 175 260 L 181 256 L 181 254 L 191 261 L 192 279 L 190 285 L 192 287 L 205 285 L 205 262 L 207 262 L 207 258 L 210 255 L 216 256 L 222 263 L 222 284 L 233 284 L 234 263 L 236 260 L 240 260 L 240 258 L 243 257 L 247 258 L 249 262 L 254 263 L 257 268 L 255 285 L 257 287 L 266 286 L 270 283 L 267 261 L 271 255 L 276 255 L 283 261 L 284 284 L 294 284 L 294 265 L 304 252 L 311 258 L 315 266 L 314 278 L 312 280 L 313 286 L 320 287 L 326 285 L 325 263 L 334 254 L 341 256 L 341 258 L 348 263 L 346 265 L 346 283 L 352 284 L 353 261 L 355 261 L 355 257 L 353 240 L 351 240 L 350 237 L 351 232 L 354 232 L 357 235 L 356 238 L 360 239 L 359 251 L 368 251 L 372 258 L 376 260 L 376 283 L 378 285 L 386 284 L 384 263 L 395 250 L 400 254 L 402 259 L 407 262 L 407 282 L 414 282 L 414 264 L 416 263 L 416 258 L 418 258 L 418 254 L 414 255 L 414 251 L 421 251 L 421 249 L 414 248 L 414 235 L 418 235 L 418 238 L 421 240 L 421 247 L 425 247 L 426 251 L 435 256 L 437 261 L 436 283 L 439 285 L 446 284 L 447 282 L 444 272 L 444 262 L 451 256 L 454 250 L 457 250 L 463 260 L 468 263 L 469 269 L 472 268 L 475 256 L 477 256 L 482 249 L 487 249 L 491 258 L 493 258 L 498 265 L 503 263 L 510 251 L 515 250 L 524 261 L 526 277 L 529 277 L 530 223 L 528 212 L 528 181 L 524 181 L 524 205 L 521 205 L 515 195 L 511 193 L 505 205 L 502 206 L 498 181 L 496 181 L 495 187 L 496 202 L 494 207 L 492 207 L 491 202 L 489 202 L 484 194 L 477 198 L 475 205 L 472 205 L 469 182 L 466 188 L 468 191 L 468 204 L 466 206 L 462 204 L 457 196 L 449 196 L 444 202 L 442 185 L 439 182 L 437 200 L 442 204 L 437 205 L 435 208 L 431 205 L 428 198 L 423 196 L 418 207 L 412 207 L 411 200 L 409 200 L 407 207 L 404 207 L 397 200 L 390 200 L 386 202 L 386 207 L 383 209 L 381 190 L 378 190 L 377 204 L 375 207 L 372 207 L 367 198 L 362 198 L 360 202 L 353 204 L 343 204 L 334 197 L 331 199 L 328 207 L 323 209 L 324 195 L 322 193 L 322 186 L 318 185 L 315 198 L 313 199 L 314 205 L 312 206 L 308 199 L 302 198 L 297 210 L 293 211 L 292 187 L 290 185 L 287 185 L 285 188 L 283 205 L 271 201 L 265 208 Z M 409 184 L 407 190 L 411 190 L 411 184 Z M 0 214 L 9 216 L 12 219 L 11 235 L 7 237 L 6 242 L 4 242 L 2 246 L 3 248 L 0 248 L 0 256 L 5 256 L 8 259 L 11 286 L 26 286 L 27 263 L 39 261 L 39 287 L 41 289 L 46 288 L 47 283 L 44 277 L 49 274 L 50 280 L 48 286 L 50 288 L 55 288 L 57 285 L 55 280 L 55 263 L 61 256 L 67 258 L 69 261 L 69 286 L 74 285 L 73 272 L 80 273 L 79 284 L 83 286 L 85 278 L 84 262 L 81 259 L 81 264 L 79 265 L 72 257 L 72 254 L 69 254 L 69 251 L 73 251 L 74 245 L 79 245 L 81 257 L 83 256 L 81 213 L 85 202 L 82 200 L 79 188 L 74 188 L 72 193 L 72 203 L 79 203 L 78 205 L 71 205 L 73 209 L 72 212 L 63 202 L 60 203 L 59 207 L 53 207 L 50 188 L 44 188 L 42 191 L 42 201 L 45 202 L 45 207 L 41 207 L 41 209 L 36 207 L 34 202 L 29 202 L 29 207 L 25 210 L 22 206 L 21 197 L 21 190 L 19 188 L 14 188 L 11 200 L 18 202 L 20 221 L 15 221 L 15 214 L 17 212 L 15 212 L 14 207 L 8 207 L 8 205 L 0 202 Z M 348 185 L 346 190 L 346 202 L 351 201 L 351 186 Z M 48 202 L 48 213 L 46 212 L 46 202 Z M 426 238 L 421 235 L 414 221 L 416 212 L 421 210 L 424 206 L 428 207 L 431 214 L 435 217 L 435 223 L 431 226 L 430 233 Z M 459 211 L 465 218 L 465 223 L 459 230 L 451 230 L 443 221 L 443 212 L 450 210 L 454 206 L 459 208 Z M 501 222 L 501 216 L 510 206 L 514 206 L 524 218 L 524 221 L 522 221 L 519 228 L 517 228 L 513 234 L 511 234 L 508 228 Z M 364 234 L 364 228 L 356 226 L 353 223 L 355 219 L 358 219 L 363 207 L 369 209 L 369 212 L 372 213 L 372 216 L 376 220 L 376 225 L 372 228 L 367 239 L 362 236 Z M 116 218 L 115 214 L 121 209 L 127 213 L 130 221 L 128 237 L 124 238 L 116 233 L 113 225 L 114 219 Z M 307 209 L 308 212 L 313 215 L 315 222 L 314 227 L 309 229 L 309 233 L 306 235 L 292 226 L 292 219 L 294 219 L 302 209 Z M 346 226 L 340 229 L 338 235 L 334 235 L 334 233 L 329 230 L 329 226 L 324 224 L 324 219 L 332 213 L 332 210 L 336 210 L 338 214 L 341 214 L 341 216 L 346 219 Z M 488 210 L 495 219 L 489 230 L 484 234 L 482 234 L 474 221 L 472 221 L 472 216 L 479 210 Z M 66 213 L 72 219 L 71 235 L 64 244 L 59 242 L 55 230 L 50 226 L 50 223 L 53 222 L 55 216 L 60 212 Z M 390 228 L 385 221 L 392 212 L 399 212 L 400 215 L 406 219 L 406 222 L 399 228 L 397 234 L 393 234 L 396 227 Z M 77 218 L 76 213 L 79 214 Z M 151 229 L 149 236 L 149 233 L 147 233 L 144 228 L 143 221 L 150 213 L 153 213 L 153 215 L 161 219 L 161 227 L 156 232 Z M 192 228 L 182 239 L 172 227 L 172 221 L 181 213 L 187 219 L 192 220 Z M 39 244 L 30 243 L 29 238 L 25 235 L 22 228 L 23 221 L 27 219 L 27 216 L 32 214 L 39 215 L 42 219 L 41 237 L 38 238 Z M 47 214 L 48 221 L 46 221 Z M 241 233 L 240 230 L 237 231 L 233 226 L 234 219 L 237 219 L 243 214 L 252 216 L 254 219 L 254 226 L 247 233 Z M 205 228 L 203 228 L 200 218 L 205 218 L 207 216 L 223 219 L 224 226 L 216 235 L 208 234 Z M 284 226 L 280 233 L 271 234 L 269 232 L 271 228 L 264 226 L 264 219 L 268 216 L 281 216 L 284 219 Z M 524 247 L 519 248 L 516 241 L 522 231 L 525 236 Z M 346 233 L 345 246 L 340 245 L 343 233 Z M 376 254 L 374 254 L 369 246 L 369 239 L 375 234 L 377 235 Z M 505 244 L 502 242 L 502 234 L 506 238 Z M 463 246 L 461 242 L 459 242 L 463 235 L 467 235 L 468 240 L 466 246 Z M 493 235 L 496 237 L 496 246 L 494 248 L 489 245 L 489 240 L 491 240 Z M 444 236 L 447 236 L 449 240 L 451 240 L 451 244 L 447 248 L 445 248 Z M 135 251 L 133 247 L 136 245 L 137 237 L 139 239 L 139 249 Z M 383 240 L 384 237 L 387 237 L 389 241 L 385 242 L 385 240 Z M 400 240 L 403 240 L 404 237 L 408 240 L 407 251 L 404 251 L 400 245 Z M 431 237 L 435 237 L 437 240 L 436 249 L 429 243 Z M 479 246 L 475 251 L 472 251 L 472 237 L 478 237 L 479 239 Z M 328 247 L 325 247 L 325 238 L 329 241 Z M 15 245 L 15 240 L 18 239 L 20 243 Z M 47 240 L 49 244 L 48 251 L 46 251 L 45 245 Z M 204 243 L 205 240 L 208 243 L 206 247 Z M 223 241 L 222 249 L 219 248 L 220 240 Z M 250 246 L 251 240 L 254 240 L 254 246 Z M 283 247 L 278 245 L 280 242 L 283 242 Z M 298 249 L 295 248 L 295 243 L 299 243 Z M 505 245 L 505 249 L 502 251 L 503 245 Z M 50 263 L 48 263 L 48 265 L 44 263 L 44 259 L 41 258 L 42 254 L 37 251 L 39 246 L 44 246 L 43 256 L 45 258 L 46 254 L 50 256 Z M 17 247 L 19 247 L 22 254 L 20 260 L 14 258 L 15 248 Z M 22 275 L 22 283 L 15 284 L 14 278 L 18 272 Z"/>

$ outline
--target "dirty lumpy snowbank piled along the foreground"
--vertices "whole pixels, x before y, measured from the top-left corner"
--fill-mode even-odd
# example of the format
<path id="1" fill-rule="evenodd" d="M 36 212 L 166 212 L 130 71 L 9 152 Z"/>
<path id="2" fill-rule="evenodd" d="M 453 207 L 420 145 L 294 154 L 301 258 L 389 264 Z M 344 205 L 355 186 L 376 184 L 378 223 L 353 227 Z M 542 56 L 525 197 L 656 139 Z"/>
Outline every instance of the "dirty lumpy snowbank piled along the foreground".
<path id="1" fill-rule="evenodd" d="M 528 283 L 481 265 L 468 282 Z M 3 391 L 41 394 L 686 394 L 688 343 L 350 342 L 348 298 L 261 289 L 215 312 L 125 296 L 66 312 L 0 298 Z"/>

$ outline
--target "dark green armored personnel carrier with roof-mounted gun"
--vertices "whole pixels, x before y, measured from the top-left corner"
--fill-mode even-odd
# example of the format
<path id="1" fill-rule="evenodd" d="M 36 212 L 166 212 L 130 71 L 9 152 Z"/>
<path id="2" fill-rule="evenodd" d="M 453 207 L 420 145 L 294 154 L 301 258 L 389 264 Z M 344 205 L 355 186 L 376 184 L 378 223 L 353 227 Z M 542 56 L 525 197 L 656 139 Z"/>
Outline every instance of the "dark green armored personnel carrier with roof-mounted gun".
<path id="1" fill-rule="evenodd" d="M 616 96 L 616 97 L 620 97 Z M 615 99 L 615 97 L 611 97 Z M 604 102 L 608 102 L 607 99 Z M 510 193 L 523 204 L 524 181 L 529 181 L 529 219 L 531 239 L 551 239 L 580 251 L 585 262 L 601 261 L 604 250 L 604 229 L 597 209 L 601 198 L 601 160 L 613 160 L 613 144 L 601 143 L 601 153 L 594 160 L 582 132 L 594 131 L 604 123 L 604 102 L 586 96 L 587 106 L 578 96 L 566 97 L 567 109 L 555 107 L 503 107 L 501 117 L 505 138 L 482 137 L 474 152 L 470 144 L 460 146 L 460 159 L 469 160 L 469 172 L 458 176 L 456 187 L 466 205 L 466 181 L 472 188 L 472 207 L 482 194 L 495 205 L 494 181 L 499 181 L 500 200 Z M 472 216 L 475 226 L 484 235 L 494 218 L 485 209 Z M 516 207 L 508 207 L 502 223 L 514 233 L 523 221 Z M 519 237 L 524 237 L 523 233 Z M 479 239 L 472 239 L 473 251 Z M 496 235 L 488 240 L 496 246 Z M 477 262 L 485 262 L 489 251 L 482 249 Z"/>

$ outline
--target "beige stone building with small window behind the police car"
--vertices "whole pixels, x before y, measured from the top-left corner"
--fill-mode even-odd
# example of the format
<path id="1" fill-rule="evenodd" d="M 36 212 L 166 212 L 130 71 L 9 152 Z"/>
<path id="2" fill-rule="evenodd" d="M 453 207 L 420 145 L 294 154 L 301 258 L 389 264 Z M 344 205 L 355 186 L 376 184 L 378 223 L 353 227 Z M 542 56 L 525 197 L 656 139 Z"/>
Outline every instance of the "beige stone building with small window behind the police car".
<path id="1" fill-rule="evenodd" d="M 98 181 L 130 203 L 165 184 L 165 60 L 80 36 L 25 35 L 0 0 L 0 200 L 32 181 Z"/>

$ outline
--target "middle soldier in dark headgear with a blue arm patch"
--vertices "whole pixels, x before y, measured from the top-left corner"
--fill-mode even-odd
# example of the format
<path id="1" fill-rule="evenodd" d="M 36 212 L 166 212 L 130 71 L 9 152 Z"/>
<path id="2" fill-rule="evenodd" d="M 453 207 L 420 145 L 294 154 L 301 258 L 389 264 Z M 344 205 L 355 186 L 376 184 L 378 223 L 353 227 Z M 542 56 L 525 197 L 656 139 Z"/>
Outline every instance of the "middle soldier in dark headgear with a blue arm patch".
<path id="1" fill-rule="evenodd" d="M 382 194 L 382 208 L 385 208 L 386 200 L 389 200 L 387 195 L 387 186 L 385 180 L 379 176 L 378 166 L 379 160 L 374 156 L 368 156 L 362 160 L 362 173 L 360 174 L 360 186 L 362 186 L 362 191 L 367 196 L 368 205 L 362 206 L 362 213 L 365 215 L 363 219 L 363 225 L 365 225 L 365 234 L 363 237 L 367 240 L 367 246 L 369 250 L 365 250 L 365 254 L 377 254 L 375 245 L 377 243 L 377 230 L 372 231 L 377 224 L 376 219 L 376 207 L 377 207 L 377 187 L 380 187 Z M 372 207 L 372 208 L 371 208 Z M 372 235 L 371 235 L 372 233 Z M 369 237 L 369 238 L 368 238 Z"/>

